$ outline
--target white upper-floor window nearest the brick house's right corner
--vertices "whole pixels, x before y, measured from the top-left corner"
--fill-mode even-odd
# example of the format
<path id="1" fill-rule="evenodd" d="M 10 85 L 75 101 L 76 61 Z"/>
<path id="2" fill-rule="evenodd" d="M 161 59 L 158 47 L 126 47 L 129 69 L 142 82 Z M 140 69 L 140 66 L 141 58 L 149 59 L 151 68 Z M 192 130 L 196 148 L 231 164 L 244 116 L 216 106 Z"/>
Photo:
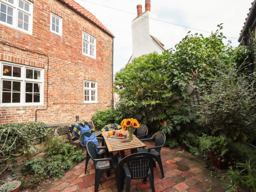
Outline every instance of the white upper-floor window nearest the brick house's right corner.
<path id="1" fill-rule="evenodd" d="M 96 58 L 96 39 L 83 32 L 83 54 Z"/>

